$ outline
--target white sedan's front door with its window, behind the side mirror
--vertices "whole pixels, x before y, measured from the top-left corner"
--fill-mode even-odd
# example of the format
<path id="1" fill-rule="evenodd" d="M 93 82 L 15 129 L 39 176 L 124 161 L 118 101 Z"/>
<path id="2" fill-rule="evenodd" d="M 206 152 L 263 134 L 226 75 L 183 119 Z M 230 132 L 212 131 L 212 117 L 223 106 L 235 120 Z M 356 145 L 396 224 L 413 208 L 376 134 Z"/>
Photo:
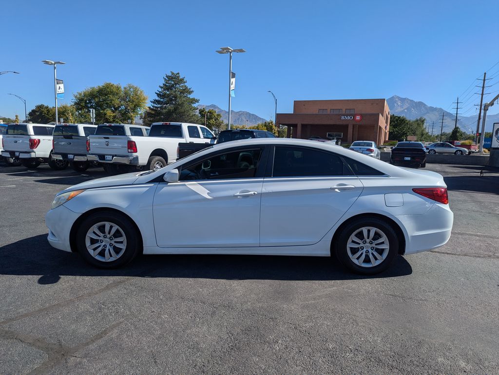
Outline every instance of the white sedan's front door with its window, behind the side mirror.
<path id="1" fill-rule="evenodd" d="M 268 147 L 236 147 L 182 165 L 153 202 L 160 248 L 258 247 Z"/>

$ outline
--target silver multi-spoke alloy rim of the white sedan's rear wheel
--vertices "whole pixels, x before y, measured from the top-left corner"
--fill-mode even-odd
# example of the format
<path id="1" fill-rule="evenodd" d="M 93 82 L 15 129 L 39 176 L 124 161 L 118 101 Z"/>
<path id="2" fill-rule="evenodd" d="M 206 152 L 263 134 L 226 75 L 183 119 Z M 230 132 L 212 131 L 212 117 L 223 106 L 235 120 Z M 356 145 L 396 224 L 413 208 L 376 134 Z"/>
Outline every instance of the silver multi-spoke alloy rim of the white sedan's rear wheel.
<path id="1" fill-rule="evenodd" d="M 357 229 L 348 239 L 346 251 L 350 260 L 361 267 L 374 267 L 386 259 L 390 244 L 378 228 Z"/>

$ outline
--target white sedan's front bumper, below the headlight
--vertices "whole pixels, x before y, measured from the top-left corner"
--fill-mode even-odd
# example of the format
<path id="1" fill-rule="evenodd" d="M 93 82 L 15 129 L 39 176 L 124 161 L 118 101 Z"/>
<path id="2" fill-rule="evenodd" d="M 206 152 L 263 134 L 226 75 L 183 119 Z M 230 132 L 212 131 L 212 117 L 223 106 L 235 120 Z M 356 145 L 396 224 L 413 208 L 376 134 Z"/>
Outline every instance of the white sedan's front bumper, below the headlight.
<path id="1" fill-rule="evenodd" d="M 71 211 L 64 205 L 50 210 L 45 215 L 49 244 L 59 250 L 71 251 L 69 234 L 74 222 L 81 214 Z"/>

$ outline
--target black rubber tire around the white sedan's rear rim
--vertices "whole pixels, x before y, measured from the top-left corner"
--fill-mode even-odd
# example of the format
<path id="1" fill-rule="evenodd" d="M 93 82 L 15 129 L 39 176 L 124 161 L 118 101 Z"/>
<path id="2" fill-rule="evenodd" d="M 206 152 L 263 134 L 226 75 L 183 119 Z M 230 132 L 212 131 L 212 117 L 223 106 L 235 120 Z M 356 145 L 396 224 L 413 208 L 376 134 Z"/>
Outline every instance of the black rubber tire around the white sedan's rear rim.
<path id="1" fill-rule="evenodd" d="M 350 236 L 352 236 L 356 231 L 364 227 L 373 227 L 378 231 L 381 231 L 386 236 L 386 239 L 388 241 L 389 248 L 385 249 L 387 250 L 387 253 L 385 254 L 384 259 L 377 265 L 361 266 L 358 263 L 354 263 L 354 261 L 350 258 L 350 255 L 348 254 L 349 250 L 350 252 L 352 252 L 353 249 L 357 249 L 356 247 L 347 248 Z M 370 234 L 370 231 L 368 231 L 368 234 Z M 376 242 L 376 238 L 378 239 L 380 238 L 377 237 L 378 235 L 379 233 L 375 232 L 375 235 L 373 237 L 374 242 Z M 361 240 L 364 240 L 363 236 Z M 382 243 L 380 246 L 382 246 L 383 244 L 386 244 L 386 241 Z M 361 243 L 360 245 L 362 246 L 363 244 Z M 385 251 L 383 249 L 364 250 L 361 249 L 360 247 L 358 249 L 359 249 L 358 251 L 362 250 L 364 251 L 364 253 L 359 254 L 359 256 L 357 257 L 357 261 L 360 259 L 360 257 L 362 257 L 362 255 L 364 255 L 364 259 L 365 258 L 370 259 L 370 257 L 366 255 L 365 251 L 371 251 L 371 254 L 372 251 L 377 251 L 380 256 L 382 256 L 383 252 Z M 350 269 L 351 271 L 362 275 L 373 275 L 379 272 L 383 272 L 392 264 L 393 260 L 395 259 L 399 251 L 399 242 L 397 240 L 397 234 L 395 233 L 395 230 L 392 228 L 390 224 L 378 218 L 365 217 L 365 218 L 358 218 L 350 222 L 341 229 L 341 233 L 337 238 L 336 243 L 333 244 L 333 250 L 339 262 L 348 269 Z M 354 254 L 352 253 L 352 255 Z M 377 257 L 375 257 L 374 255 L 373 258 L 377 259 Z"/>

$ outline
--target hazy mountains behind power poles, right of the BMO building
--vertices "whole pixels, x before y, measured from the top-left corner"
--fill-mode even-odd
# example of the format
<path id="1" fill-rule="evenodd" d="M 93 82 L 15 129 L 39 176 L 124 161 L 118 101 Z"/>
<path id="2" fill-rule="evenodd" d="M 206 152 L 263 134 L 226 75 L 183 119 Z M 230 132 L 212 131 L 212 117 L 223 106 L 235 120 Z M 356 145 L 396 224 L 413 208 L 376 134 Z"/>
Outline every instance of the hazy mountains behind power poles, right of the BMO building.
<path id="1" fill-rule="evenodd" d="M 405 116 L 409 120 L 424 117 L 429 123 L 430 132 L 432 122 L 434 122 L 434 134 L 440 133 L 442 113 L 444 114 L 444 131 L 451 131 L 454 127 L 456 114 L 452 114 L 443 108 L 431 107 L 423 102 L 416 102 L 409 98 L 401 98 L 397 95 L 388 98 L 386 102 L 388 103 L 392 115 Z M 478 115 L 458 116 L 458 119 L 458 126 L 461 130 L 468 133 L 477 130 Z M 480 120 L 480 122 L 482 123 L 482 120 Z M 487 115 L 485 131 L 492 131 L 493 124 L 498 122 L 499 114 Z M 480 128 L 482 128 L 482 124 L 480 124 Z"/>

